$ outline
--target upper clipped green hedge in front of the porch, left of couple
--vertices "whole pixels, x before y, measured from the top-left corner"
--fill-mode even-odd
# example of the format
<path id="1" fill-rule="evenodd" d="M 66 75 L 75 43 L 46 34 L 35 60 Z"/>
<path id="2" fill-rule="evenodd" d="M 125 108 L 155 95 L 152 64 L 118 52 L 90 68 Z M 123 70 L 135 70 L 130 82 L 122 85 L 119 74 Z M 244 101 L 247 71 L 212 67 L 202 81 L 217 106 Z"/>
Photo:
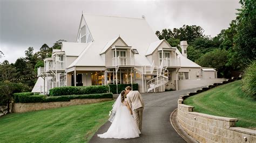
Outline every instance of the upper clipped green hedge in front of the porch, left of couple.
<path id="1" fill-rule="evenodd" d="M 62 95 L 86 95 L 86 94 L 103 94 L 109 91 L 106 85 L 93 85 L 88 87 L 57 87 L 50 89 L 50 96 Z"/>

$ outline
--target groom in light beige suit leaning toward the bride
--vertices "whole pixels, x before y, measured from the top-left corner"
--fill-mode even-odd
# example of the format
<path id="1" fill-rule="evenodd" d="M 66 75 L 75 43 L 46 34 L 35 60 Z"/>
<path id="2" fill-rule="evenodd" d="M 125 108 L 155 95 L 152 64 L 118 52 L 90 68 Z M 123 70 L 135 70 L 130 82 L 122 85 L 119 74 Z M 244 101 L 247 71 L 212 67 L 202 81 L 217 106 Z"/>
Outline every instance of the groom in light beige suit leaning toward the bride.
<path id="1" fill-rule="evenodd" d="M 125 88 L 125 93 L 130 108 L 132 109 L 133 118 L 140 132 L 142 132 L 142 114 L 144 108 L 142 95 L 140 95 L 139 91 L 132 91 L 130 86 Z"/>

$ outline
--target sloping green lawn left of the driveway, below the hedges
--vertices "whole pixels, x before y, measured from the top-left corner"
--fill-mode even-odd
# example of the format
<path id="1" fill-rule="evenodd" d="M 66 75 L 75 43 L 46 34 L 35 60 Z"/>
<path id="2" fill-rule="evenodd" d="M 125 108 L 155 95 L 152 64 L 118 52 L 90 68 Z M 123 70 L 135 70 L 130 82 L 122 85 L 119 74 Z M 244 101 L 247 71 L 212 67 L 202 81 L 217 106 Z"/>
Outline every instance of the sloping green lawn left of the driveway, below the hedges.
<path id="1" fill-rule="evenodd" d="M 0 142 L 88 142 L 114 101 L 0 117 Z"/>

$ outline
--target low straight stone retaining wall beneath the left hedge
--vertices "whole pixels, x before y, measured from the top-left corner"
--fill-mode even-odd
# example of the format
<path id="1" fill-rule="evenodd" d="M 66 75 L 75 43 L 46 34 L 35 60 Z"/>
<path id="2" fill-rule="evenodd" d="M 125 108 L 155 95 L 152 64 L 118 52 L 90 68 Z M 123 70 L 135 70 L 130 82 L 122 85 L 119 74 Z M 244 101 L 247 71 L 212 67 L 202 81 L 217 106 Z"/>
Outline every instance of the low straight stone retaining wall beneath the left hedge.
<path id="1" fill-rule="evenodd" d="M 100 99 L 71 99 L 67 102 L 47 102 L 47 103 L 14 103 L 12 105 L 12 113 L 22 113 L 29 111 L 37 111 L 43 109 L 59 108 L 70 105 L 90 104 L 104 101 L 111 101 L 112 98 Z"/>

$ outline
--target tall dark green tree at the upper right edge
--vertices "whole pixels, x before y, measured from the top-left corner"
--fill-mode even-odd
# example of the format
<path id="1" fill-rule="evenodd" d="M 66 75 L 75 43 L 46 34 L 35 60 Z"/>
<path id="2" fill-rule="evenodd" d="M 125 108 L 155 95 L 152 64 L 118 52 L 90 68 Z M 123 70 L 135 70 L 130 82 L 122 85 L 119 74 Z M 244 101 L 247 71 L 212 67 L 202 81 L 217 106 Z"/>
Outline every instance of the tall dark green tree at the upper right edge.
<path id="1" fill-rule="evenodd" d="M 234 54 L 242 63 L 256 58 L 256 2 L 240 0 L 242 6 L 237 17 L 237 35 L 234 37 Z M 246 64 L 244 64 L 246 67 Z"/>

